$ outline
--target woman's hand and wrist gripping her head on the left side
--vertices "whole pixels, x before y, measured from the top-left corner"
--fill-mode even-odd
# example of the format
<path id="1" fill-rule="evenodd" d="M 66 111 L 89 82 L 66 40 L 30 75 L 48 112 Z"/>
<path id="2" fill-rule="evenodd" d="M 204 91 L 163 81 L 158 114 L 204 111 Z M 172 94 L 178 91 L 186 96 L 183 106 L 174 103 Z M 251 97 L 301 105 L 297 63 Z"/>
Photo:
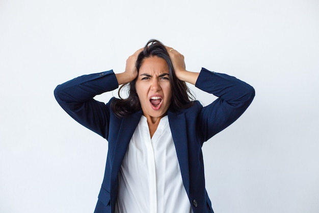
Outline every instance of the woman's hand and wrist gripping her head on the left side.
<path id="1" fill-rule="evenodd" d="M 138 72 L 136 70 L 136 60 L 142 51 L 143 48 L 139 49 L 133 55 L 129 56 L 126 59 L 125 71 L 123 73 L 115 74 L 119 85 L 131 82 L 137 77 Z"/>

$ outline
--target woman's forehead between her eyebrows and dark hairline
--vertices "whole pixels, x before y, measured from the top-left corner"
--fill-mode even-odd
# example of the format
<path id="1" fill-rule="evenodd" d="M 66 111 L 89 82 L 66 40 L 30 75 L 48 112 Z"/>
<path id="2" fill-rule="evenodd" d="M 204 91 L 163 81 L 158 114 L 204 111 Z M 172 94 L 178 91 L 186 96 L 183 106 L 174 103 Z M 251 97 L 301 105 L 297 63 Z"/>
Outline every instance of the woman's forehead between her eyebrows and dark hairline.
<path id="1" fill-rule="evenodd" d="M 147 73 L 163 73 L 169 72 L 168 64 L 163 58 L 153 56 L 145 58 L 140 67 L 140 72 Z"/>

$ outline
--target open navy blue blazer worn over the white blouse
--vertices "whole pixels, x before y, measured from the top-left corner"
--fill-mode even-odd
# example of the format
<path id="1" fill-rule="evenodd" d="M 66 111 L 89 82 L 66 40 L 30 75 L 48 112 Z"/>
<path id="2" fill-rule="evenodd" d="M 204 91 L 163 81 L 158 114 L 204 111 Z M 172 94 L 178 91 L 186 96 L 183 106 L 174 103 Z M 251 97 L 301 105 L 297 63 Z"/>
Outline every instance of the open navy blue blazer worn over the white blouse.
<path id="1" fill-rule="evenodd" d="M 233 123 L 252 102 L 255 91 L 249 84 L 226 74 L 202 68 L 196 87 L 217 100 L 203 107 L 198 101 L 188 109 L 168 110 L 183 185 L 194 213 L 212 213 L 205 190 L 203 143 Z M 118 82 L 113 70 L 85 75 L 65 82 L 55 89 L 61 107 L 78 123 L 101 135 L 109 142 L 104 179 L 95 213 L 113 213 L 117 199 L 118 172 L 142 111 L 127 117 L 115 116 L 108 104 L 93 98 L 114 90 Z"/>

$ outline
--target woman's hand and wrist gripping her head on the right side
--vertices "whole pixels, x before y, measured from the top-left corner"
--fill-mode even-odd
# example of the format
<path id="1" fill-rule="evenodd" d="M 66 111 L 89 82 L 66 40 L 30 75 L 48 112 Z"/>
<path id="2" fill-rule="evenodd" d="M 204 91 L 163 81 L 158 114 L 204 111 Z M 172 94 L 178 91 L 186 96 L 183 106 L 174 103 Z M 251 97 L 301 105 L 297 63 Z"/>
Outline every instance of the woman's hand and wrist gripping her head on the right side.
<path id="1" fill-rule="evenodd" d="M 180 54 L 177 50 L 165 46 L 166 50 L 171 58 L 175 75 L 181 81 L 186 81 L 191 84 L 196 84 L 199 73 L 193 73 L 186 70 L 184 56 Z"/>

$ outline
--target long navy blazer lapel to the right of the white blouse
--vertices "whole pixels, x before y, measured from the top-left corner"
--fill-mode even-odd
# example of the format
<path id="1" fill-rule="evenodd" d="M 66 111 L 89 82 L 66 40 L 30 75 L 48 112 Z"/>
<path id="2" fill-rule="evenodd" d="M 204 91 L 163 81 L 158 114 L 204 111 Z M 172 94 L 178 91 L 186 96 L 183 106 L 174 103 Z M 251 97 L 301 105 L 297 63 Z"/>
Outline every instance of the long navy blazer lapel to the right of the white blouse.
<path id="1" fill-rule="evenodd" d="M 189 194 L 190 174 L 185 114 L 175 114 L 169 111 L 168 120 L 176 148 L 183 184 L 187 194 Z"/>

